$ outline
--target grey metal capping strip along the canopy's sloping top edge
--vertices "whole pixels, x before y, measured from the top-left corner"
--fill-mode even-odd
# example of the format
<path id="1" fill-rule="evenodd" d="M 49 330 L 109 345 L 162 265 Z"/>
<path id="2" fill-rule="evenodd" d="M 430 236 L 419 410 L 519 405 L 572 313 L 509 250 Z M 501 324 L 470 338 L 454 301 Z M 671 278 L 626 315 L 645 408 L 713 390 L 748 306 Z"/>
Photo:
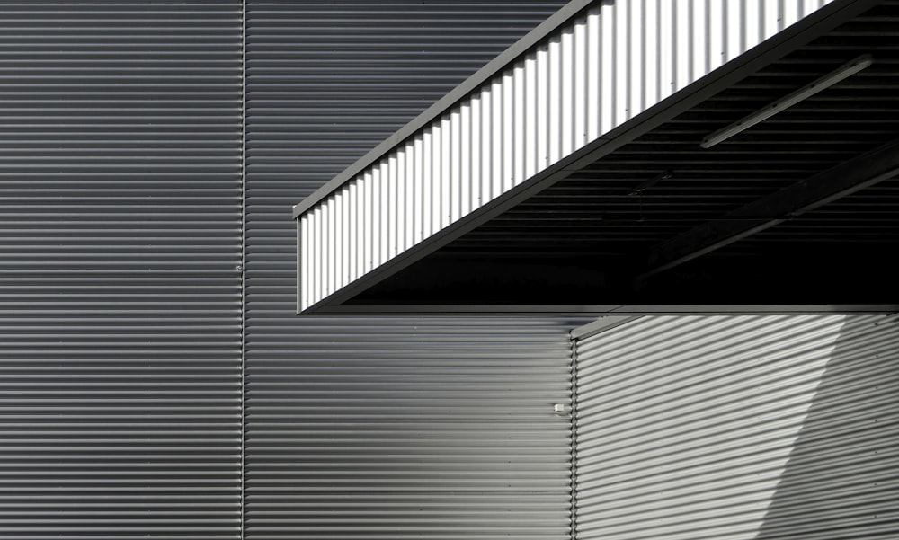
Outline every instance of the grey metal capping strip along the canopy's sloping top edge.
<path id="1" fill-rule="evenodd" d="M 590 7 L 601 0 L 571 0 L 568 4 L 562 6 L 561 9 L 550 15 L 546 20 L 540 22 L 534 30 L 528 32 L 520 40 L 515 41 L 508 49 L 503 50 L 499 56 L 490 60 L 485 66 L 478 69 L 474 75 L 469 76 L 461 84 L 449 91 L 440 100 L 434 102 L 430 107 L 425 109 L 421 114 L 399 128 L 392 135 L 381 141 L 368 153 L 356 160 L 352 165 L 343 169 L 343 172 L 334 176 L 333 179 L 327 181 L 322 187 L 313 191 L 306 199 L 303 199 L 293 207 L 293 218 L 300 217 L 307 209 L 314 207 L 318 202 L 326 199 L 328 195 L 338 190 L 344 183 L 351 181 L 357 174 L 364 171 L 370 164 L 374 164 L 378 159 L 387 155 L 390 150 L 402 144 L 407 138 L 412 137 L 419 129 L 428 126 L 433 120 L 440 118 L 441 114 L 449 110 L 453 105 L 465 99 L 469 93 L 476 90 L 478 86 L 489 81 L 495 75 L 503 71 L 517 58 L 521 57 L 529 49 L 536 46 L 541 40 L 544 40 L 554 31 L 565 25 L 566 22 L 573 19 L 578 13 Z"/>

